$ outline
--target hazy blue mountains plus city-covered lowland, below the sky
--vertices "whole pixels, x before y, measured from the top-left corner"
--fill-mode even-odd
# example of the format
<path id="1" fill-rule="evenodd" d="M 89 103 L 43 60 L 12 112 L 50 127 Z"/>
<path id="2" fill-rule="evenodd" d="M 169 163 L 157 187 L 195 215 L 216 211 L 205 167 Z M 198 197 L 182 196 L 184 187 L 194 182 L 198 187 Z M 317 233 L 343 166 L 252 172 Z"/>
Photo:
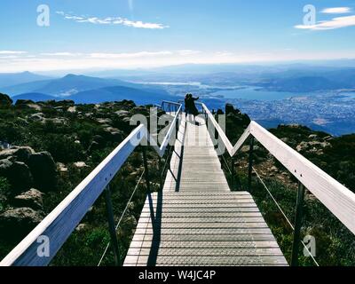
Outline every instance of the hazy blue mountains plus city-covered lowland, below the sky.
<path id="1" fill-rule="evenodd" d="M 130 70 L 125 77 L 65 75 L 50 78 L 29 72 L 0 74 L 0 92 L 10 95 L 14 102 L 17 99 L 72 99 L 77 104 L 92 104 L 131 99 L 138 105 L 148 105 L 160 103 L 164 99 L 177 101 L 188 91 L 200 96 L 211 109 L 224 109 L 230 99 L 214 96 L 216 90 L 252 86 L 260 87 L 265 96 L 267 91 L 280 91 L 280 99 L 272 102 L 238 98 L 231 101 L 265 126 L 297 122 L 333 134 L 353 132 L 355 122 L 351 106 L 355 98 L 351 94 L 339 97 L 338 93 L 339 90 L 345 93 L 355 90 L 355 67 L 312 67 L 303 64 L 204 67 L 206 72 L 218 72 L 198 74 L 202 66 L 196 65 L 157 68 L 154 72 L 139 71 L 137 74 Z M 190 72 L 184 73 L 188 68 Z M 176 73 L 170 73 L 173 70 Z M 114 73 L 102 72 L 101 75 L 114 76 Z M 7 86 L 14 82 L 17 84 Z M 293 92 L 295 97 L 311 99 L 282 100 L 282 92 Z M 319 96 L 323 94 L 325 97 L 319 101 Z M 313 121 L 317 118 L 324 119 L 325 124 L 315 124 Z"/>

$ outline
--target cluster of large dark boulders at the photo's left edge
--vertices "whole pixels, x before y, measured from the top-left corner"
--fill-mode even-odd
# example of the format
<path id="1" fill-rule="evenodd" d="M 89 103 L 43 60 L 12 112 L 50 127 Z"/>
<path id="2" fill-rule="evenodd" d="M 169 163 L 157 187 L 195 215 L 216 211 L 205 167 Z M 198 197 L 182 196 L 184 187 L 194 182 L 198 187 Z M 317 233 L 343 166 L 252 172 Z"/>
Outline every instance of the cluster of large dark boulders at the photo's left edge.
<path id="1" fill-rule="evenodd" d="M 36 153 L 28 146 L 14 146 L 0 152 L 0 177 L 9 182 L 3 193 L 0 230 L 4 238 L 23 235 L 43 218 L 43 194 L 57 182 L 56 164 L 48 152 Z M 36 188 L 38 189 L 36 189 Z"/>

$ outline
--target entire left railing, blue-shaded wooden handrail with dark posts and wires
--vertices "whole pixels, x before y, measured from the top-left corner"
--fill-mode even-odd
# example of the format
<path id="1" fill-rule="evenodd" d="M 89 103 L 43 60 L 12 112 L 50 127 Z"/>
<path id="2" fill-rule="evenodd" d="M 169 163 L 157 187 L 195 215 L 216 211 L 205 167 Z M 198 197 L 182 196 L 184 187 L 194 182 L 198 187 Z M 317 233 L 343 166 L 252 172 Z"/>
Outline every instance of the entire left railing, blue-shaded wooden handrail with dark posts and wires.
<path id="1" fill-rule="evenodd" d="M 169 107 L 169 105 L 172 105 Z M 67 197 L 59 203 L 59 205 L 51 211 L 51 213 L 36 226 L 36 228 L 28 234 L 28 236 L 20 241 L 20 243 L 12 249 L 12 251 L 4 257 L 0 266 L 43 266 L 48 265 L 51 259 L 56 256 L 59 248 L 67 241 L 67 238 L 73 233 L 75 227 L 79 225 L 85 214 L 91 208 L 99 196 L 105 192 L 106 210 L 108 217 L 109 232 L 111 236 L 111 246 L 114 250 L 115 264 L 121 264 L 119 249 L 116 236 L 116 228 L 120 225 L 122 217 L 126 209 L 123 210 L 122 217 L 118 225 L 114 225 L 114 212 L 111 201 L 111 192 L 109 184 L 116 173 L 122 168 L 122 165 L 130 157 L 130 154 L 144 141 L 154 142 L 154 150 L 162 158 L 169 144 L 172 144 L 172 138 L 177 138 L 179 115 L 182 112 L 182 105 L 163 101 L 161 108 L 168 106 L 170 110 L 174 110 L 172 122 L 170 122 L 161 146 L 157 146 L 156 141 L 152 138 L 141 124 L 133 130 L 129 137 L 126 138 L 114 151 L 109 154 L 99 166 L 92 170 L 91 174 L 86 177 L 80 185 L 67 195 Z M 170 112 L 171 114 L 171 112 Z M 175 136 L 174 136 L 175 135 Z M 175 141 L 174 141 L 175 142 Z M 146 179 L 147 191 L 150 191 L 150 181 L 148 173 L 148 164 L 146 158 L 146 147 L 142 146 L 144 175 Z M 139 179 L 139 183 L 141 178 Z M 136 188 L 137 189 L 137 188 Z M 133 192 L 135 193 L 136 190 Z M 131 196 L 132 198 L 132 196 Z M 37 249 L 41 247 L 44 237 L 50 241 L 50 255 L 41 256 L 37 253 Z M 104 256 L 108 248 L 106 248 Z M 101 263 L 102 259 L 100 260 Z"/>

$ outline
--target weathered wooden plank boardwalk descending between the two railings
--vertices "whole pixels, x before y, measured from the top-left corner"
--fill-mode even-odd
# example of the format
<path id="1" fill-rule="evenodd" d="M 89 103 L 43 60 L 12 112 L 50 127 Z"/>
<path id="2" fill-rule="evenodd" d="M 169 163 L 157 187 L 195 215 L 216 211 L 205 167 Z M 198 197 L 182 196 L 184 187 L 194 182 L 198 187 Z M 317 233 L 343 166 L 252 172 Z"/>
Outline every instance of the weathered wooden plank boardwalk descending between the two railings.
<path id="1" fill-rule="evenodd" d="M 183 121 L 163 190 L 147 197 L 124 265 L 288 263 L 251 195 L 230 191 L 206 126 Z"/>

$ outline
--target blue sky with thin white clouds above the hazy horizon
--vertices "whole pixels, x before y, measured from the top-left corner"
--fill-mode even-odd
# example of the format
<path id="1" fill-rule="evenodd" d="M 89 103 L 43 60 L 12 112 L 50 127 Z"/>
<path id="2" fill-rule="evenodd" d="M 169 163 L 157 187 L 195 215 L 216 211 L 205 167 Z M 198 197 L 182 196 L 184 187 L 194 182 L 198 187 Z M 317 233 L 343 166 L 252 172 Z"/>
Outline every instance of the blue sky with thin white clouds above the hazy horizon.
<path id="1" fill-rule="evenodd" d="M 0 36 L 0 72 L 355 58 L 355 1 L 2 0 Z"/>

